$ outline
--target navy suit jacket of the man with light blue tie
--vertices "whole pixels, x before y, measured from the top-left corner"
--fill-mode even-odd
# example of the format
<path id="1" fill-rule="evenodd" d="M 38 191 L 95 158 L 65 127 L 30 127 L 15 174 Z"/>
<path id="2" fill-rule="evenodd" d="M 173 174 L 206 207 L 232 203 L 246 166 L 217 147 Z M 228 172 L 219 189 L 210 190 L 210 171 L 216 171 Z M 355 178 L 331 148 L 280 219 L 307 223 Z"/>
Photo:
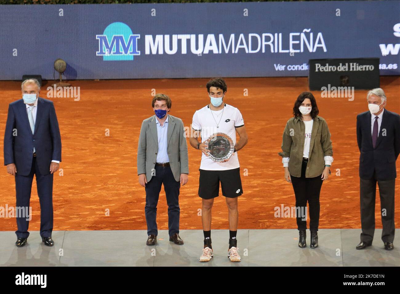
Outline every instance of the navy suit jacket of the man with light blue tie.
<path id="1" fill-rule="evenodd" d="M 4 165 L 14 163 L 18 174 L 28 176 L 32 167 L 33 148 L 40 173 L 50 174 L 51 161 L 61 161 L 61 136 L 53 102 L 41 97 L 38 98 L 34 134 L 30 129 L 24 100 L 14 101 L 8 106 Z"/>

